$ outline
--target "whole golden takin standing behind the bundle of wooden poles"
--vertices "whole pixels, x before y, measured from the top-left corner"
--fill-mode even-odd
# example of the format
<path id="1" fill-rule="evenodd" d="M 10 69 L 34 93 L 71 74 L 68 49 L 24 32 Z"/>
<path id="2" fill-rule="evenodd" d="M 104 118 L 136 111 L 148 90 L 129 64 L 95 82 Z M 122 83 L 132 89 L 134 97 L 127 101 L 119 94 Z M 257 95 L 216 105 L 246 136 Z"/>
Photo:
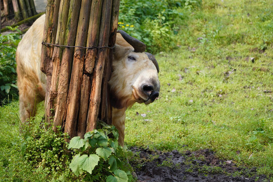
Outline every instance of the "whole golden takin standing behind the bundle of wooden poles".
<path id="1" fill-rule="evenodd" d="M 46 76 L 40 71 L 41 43 L 45 16 L 38 18 L 20 41 L 17 52 L 17 74 L 20 119 L 25 122 L 35 114 L 35 104 L 45 98 Z M 112 75 L 109 81 L 113 106 L 112 124 L 119 131 L 123 146 L 125 110 L 135 102 L 150 104 L 159 96 L 159 67 L 146 45 L 119 30 L 114 47 Z"/>

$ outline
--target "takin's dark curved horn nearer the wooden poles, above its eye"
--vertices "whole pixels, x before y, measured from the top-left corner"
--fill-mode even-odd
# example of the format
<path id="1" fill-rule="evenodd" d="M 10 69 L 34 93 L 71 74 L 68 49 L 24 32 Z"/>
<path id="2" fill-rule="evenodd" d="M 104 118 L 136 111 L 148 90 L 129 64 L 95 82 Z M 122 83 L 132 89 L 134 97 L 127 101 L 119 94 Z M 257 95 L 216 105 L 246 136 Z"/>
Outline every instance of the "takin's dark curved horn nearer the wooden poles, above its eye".
<path id="1" fill-rule="evenodd" d="M 132 45 L 135 53 L 142 53 L 146 50 L 146 45 L 142 41 L 128 35 L 123 30 L 118 30 L 117 33 L 120 33 L 121 36 L 130 44 Z"/>

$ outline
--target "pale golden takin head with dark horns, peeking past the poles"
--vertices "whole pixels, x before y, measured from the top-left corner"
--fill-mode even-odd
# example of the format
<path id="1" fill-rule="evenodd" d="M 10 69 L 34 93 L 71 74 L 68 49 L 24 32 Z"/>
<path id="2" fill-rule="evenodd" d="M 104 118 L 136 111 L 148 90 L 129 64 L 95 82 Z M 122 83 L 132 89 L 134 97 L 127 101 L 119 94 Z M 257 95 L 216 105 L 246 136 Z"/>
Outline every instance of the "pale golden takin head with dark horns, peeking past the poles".
<path id="1" fill-rule="evenodd" d="M 145 49 L 143 42 L 118 30 L 109 81 L 113 107 L 127 108 L 135 102 L 150 104 L 159 96 L 159 66 Z"/>

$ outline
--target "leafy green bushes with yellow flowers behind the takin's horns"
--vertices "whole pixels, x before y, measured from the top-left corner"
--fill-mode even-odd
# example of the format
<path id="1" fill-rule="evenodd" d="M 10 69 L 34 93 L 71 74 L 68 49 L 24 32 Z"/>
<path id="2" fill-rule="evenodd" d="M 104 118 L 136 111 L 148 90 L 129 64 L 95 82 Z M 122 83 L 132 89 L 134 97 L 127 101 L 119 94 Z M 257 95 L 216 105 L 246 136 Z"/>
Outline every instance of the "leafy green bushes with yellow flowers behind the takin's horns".
<path id="1" fill-rule="evenodd" d="M 150 52 L 176 48 L 179 26 L 186 18 L 179 8 L 194 9 L 201 1 L 128 1 L 120 3 L 119 26 L 147 44 Z"/>

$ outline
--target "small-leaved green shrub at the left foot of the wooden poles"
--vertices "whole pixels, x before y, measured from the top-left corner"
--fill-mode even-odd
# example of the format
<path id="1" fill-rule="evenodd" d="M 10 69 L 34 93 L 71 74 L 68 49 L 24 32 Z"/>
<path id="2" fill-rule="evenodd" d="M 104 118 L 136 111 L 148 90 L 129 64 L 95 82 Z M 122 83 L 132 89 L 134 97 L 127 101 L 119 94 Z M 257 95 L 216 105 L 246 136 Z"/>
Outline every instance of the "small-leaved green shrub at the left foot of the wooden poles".
<path id="1" fill-rule="evenodd" d="M 50 123 L 41 122 L 35 125 L 33 121 L 34 118 L 30 118 L 21 126 L 21 153 L 28 165 L 33 167 L 29 170 L 41 174 L 46 179 L 63 178 L 65 181 L 74 181 L 76 176 L 67 168 L 70 154 L 65 151 L 65 139 L 68 135 L 54 132 Z M 61 131 L 61 127 L 58 130 Z"/>

